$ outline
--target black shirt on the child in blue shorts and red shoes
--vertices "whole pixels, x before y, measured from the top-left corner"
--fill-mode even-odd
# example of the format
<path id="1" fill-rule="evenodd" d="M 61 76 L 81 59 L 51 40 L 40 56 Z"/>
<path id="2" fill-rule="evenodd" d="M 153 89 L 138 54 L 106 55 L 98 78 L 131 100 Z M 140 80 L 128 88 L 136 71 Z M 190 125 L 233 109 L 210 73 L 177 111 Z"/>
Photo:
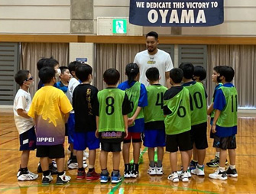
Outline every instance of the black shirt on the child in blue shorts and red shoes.
<path id="1" fill-rule="evenodd" d="M 98 89 L 89 83 L 76 86 L 73 92 L 76 132 L 96 131 L 97 94 Z"/>

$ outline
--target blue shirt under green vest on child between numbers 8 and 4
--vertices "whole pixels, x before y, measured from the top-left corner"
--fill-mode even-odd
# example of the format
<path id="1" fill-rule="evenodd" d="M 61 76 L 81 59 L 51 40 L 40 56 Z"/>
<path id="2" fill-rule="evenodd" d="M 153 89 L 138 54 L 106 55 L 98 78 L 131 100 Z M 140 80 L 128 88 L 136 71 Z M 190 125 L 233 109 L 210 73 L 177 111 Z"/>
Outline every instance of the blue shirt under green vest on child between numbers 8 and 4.
<path id="1" fill-rule="evenodd" d="M 118 85 L 118 89 L 122 89 L 122 90 L 129 89 L 131 88 L 131 86 L 134 86 L 135 82 L 136 81 L 131 82 L 131 85 L 128 84 L 128 81 L 122 82 Z M 140 94 L 140 98 L 138 99 L 138 106 L 142 108 L 147 106 L 147 89 L 143 83 L 141 83 L 141 94 Z M 136 119 L 134 123 L 135 123 L 134 126 L 128 128 L 129 132 L 141 133 L 144 131 L 144 118 Z"/>

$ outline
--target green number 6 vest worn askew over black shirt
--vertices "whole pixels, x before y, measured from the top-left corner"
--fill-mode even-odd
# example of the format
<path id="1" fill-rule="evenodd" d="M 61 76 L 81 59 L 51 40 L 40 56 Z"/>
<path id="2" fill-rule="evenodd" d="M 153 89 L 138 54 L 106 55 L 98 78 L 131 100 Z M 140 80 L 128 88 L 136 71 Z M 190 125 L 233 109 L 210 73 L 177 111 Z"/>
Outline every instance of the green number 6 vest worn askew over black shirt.
<path id="1" fill-rule="evenodd" d="M 181 134 L 191 129 L 190 92 L 183 86 L 173 86 L 164 94 L 164 124 L 166 134 Z"/>

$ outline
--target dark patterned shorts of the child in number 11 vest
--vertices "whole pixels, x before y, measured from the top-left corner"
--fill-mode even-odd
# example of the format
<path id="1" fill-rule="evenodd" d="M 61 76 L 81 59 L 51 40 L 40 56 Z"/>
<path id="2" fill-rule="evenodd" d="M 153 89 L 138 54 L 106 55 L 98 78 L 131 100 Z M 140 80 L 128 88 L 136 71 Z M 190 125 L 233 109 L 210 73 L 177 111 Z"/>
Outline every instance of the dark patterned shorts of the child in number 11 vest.
<path id="1" fill-rule="evenodd" d="M 236 140 L 235 134 L 229 137 L 218 137 L 214 136 L 213 147 L 220 148 L 222 150 L 235 149 Z"/>

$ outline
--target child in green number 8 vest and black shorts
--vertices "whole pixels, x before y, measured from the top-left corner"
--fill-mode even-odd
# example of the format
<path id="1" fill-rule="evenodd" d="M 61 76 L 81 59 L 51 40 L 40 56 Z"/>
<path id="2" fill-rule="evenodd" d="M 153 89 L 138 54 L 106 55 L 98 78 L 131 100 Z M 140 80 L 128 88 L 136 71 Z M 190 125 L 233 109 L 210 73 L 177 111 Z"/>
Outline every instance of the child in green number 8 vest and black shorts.
<path id="1" fill-rule="evenodd" d="M 121 142 L 128 136 L 128 113 L 131 105 L 125 91 L 116 88 L 120 79 L 118 70 L 113 68 L 106 70 L 103 74 L 106 89 L 98 93 L 99 113 L 97 113 L 96 137 L 101 143 L 100 182 L 107 183 L 110 179 L 107 170 L 108 154 L 113 153 L 112 183 L 119 183 L 122 177 L 119 172 Z"/>

